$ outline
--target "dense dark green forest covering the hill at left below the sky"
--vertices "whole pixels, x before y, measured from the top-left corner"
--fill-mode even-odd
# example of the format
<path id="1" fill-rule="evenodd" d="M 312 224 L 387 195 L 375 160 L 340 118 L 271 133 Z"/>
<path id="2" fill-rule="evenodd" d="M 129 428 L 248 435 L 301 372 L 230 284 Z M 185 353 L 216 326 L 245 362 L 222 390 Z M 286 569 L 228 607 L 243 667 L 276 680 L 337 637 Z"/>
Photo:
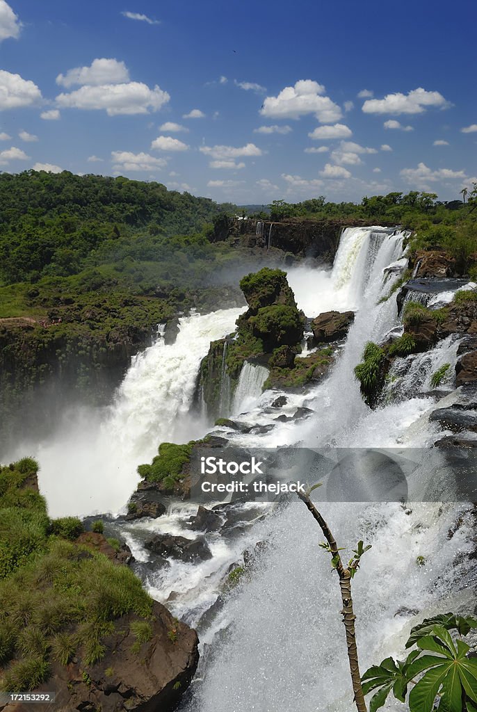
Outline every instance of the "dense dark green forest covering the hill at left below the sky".
<path id="1" fill-rule="evenodd" d="M 203 236 L 214 218 L 234 211 L 232 204 L 156 182 L 67 171 L 3 173 L 0 283 L 70 276 L 126 257 L 160 261 L 167 258 L 169 237 Z M 188 250 L 204 256 L 204 240 L 198 250 L 190 242 Z"/>

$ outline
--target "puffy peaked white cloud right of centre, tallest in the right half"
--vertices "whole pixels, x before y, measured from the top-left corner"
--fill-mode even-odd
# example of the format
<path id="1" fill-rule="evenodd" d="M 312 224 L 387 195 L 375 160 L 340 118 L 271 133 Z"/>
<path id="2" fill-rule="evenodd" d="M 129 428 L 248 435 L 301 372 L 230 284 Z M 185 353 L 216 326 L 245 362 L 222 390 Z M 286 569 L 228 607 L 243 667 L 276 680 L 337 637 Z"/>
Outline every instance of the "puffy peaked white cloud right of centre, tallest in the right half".
<path id="1" fill-rule="evenodd" d="M 323 96 L 325 87 L 311 79 L 300 79 L 293 87 L 285 87 L 278 96 L 268 96 L 260 110 L 262 116 L 299 119 L 306 114 L 315 114 L 323 124 L 342 117 L 340 107 L 329 97 Z"/>

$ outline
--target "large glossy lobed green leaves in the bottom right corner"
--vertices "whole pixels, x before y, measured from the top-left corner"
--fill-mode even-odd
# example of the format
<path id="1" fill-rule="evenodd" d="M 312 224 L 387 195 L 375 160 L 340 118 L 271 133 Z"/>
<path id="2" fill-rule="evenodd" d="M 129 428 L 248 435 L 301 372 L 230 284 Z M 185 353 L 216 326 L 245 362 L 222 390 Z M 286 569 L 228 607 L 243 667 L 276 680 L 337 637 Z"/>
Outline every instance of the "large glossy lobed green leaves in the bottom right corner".
<path id="1" fill-rule="evenodd" d="M 386 703 L 389 693 L 409 703 L 410 712 L 475 712 L 477 710 L 477 659 L 463 642 L 477 619 L 446 613 L 424 619 L 415 626 L 405 660 L 386 658 L 362 676 L 365 694 L 374 691 L 369 712 Z M 453 631 L 451 635 L 449 631 Z"/>

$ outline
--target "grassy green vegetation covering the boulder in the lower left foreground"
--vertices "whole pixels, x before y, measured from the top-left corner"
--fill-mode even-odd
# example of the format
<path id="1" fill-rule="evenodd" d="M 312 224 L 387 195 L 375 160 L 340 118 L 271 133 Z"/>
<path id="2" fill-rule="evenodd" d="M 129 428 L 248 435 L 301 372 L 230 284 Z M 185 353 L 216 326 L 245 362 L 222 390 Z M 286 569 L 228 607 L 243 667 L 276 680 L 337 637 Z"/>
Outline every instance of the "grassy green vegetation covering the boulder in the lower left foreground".
<path id="1" fill-rule="evenodd" d="M 74 542 L 73 517 L 48 520 L 35 489 L 38 464 L 0 468 L 0 689 L 28 691 L 74 656 L 103 659 L 105 637 L 125 614 L 139 635 L 150 629 L 152 600 L 127 567 Z M 88 676 L 85 671 L 84 674 Z M 89 676 L 88 676 L 89 677 Z"/>

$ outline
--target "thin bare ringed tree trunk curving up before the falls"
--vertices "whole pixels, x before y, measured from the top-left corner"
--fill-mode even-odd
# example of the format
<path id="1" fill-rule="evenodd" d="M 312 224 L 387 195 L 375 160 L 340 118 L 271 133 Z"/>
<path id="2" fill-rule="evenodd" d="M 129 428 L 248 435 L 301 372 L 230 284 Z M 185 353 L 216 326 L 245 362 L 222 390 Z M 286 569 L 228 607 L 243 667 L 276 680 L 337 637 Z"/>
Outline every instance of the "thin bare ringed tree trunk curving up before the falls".
<path id="1" fill-rule="evenodd" d="M 341 600 L 342 600 L 342 617 L 343 617 L 343 623 L 345 624 L 345 631 L 346 631 L 346 645 L 347 645 L 347 652 L 348 652 L 348 659 L 350 661 L 350 674 L 351 674 L 351 681 L 352 681 L 352 686 L 353 686 L 353 692 L 355 693 L 355 703 L 357 707 L 358 712 L 367 712 L 367 707 L 366 707 L 366 702 L 365 702 L 365 695 L 363 694 L 362 691 L 362 686 L 361 686 L 361 674 L 360 674 L 360 664 L 358 662 L 358 654 L 357 654 L 357 647 L 356 647 L 356 635 L 355 635 L 355 613 L 353 612 L 353 601 L 351 597 L 351 573 L 350 570 L 347 569 L 345 566 L 343 566 L 343 562 L 341 560 L 340 552 L 337 547 L 337 543 L 335 541 L 335 537 L 332 535 L 330 528 L 328 527 L 327 523 L 323 519 L 322 515 L 318 511 L 318 509 L 315 507 L 313 502 L 310 500 L 310 497 L 307 494 L 303 494 L 298 492 L 298 496 L 300 497 L 300 500 L 305 503 L 305 505 L 308 507 L 310 512 L 313 515 L 313 518 L 318 522 L 320 525 L 321 530 L 323 531 L 323 534 L 325 535 L 325 539 L 327 540 L 327 543 L 330 545 L 330 550 L 332 553 L 332 557 L 335 560 L 336 563 L 336 570 L 337 570 L 337 575 L 340 577 L 340 591 L 341 591 Z"/>

